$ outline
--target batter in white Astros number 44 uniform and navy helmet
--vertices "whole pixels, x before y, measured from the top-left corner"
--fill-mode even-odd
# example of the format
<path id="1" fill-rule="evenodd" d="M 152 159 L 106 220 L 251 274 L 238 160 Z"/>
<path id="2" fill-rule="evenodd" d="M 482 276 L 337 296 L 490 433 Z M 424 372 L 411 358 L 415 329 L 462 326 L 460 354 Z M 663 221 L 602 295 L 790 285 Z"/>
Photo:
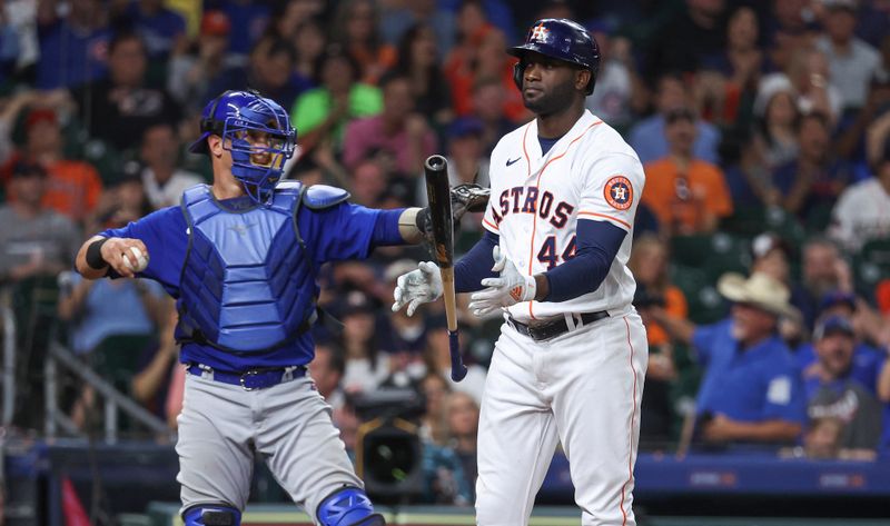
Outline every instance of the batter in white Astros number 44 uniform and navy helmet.
<path id="1" fill-rule="evenodd" d="M 626 264 L 643 169 L 584 109 L 600 52 L 581 26 L 540 20 L 510 52 L 536 118 L 492 152 L 486 234 L 455 266 L 471 310 L 505 319 L 482 401 L 476 520 L 527 525 L 562 444 L 583 524 L 634 525 L 647 347 Z M 435 270 L 402 276 L 393 308 L 435 299 Z"/>

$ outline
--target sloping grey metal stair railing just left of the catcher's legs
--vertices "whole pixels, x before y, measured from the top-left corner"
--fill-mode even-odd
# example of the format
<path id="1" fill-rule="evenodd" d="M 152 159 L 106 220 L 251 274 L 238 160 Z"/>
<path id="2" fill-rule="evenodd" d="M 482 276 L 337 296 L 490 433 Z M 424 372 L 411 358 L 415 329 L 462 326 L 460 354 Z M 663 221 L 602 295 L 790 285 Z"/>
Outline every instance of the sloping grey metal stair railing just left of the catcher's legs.
<path id="1" fill-rule="evenodd" d="M 167 426 L 166 421 L 152 415 L 130 397 L 117 390 L 109 381 L 77 359 L 73 353 L 61 344 L 51 341 L 49 344 L 49 353 L 47 353 L 47 360 L 43 364 L 43 376 L 46 378 L 43 388 L 47 404 L 44 434 L 48 439 L 57 436 L 59 427 L 63 428 L 67 434 L 82 435 L 77 426 L 59 410 L 58 390 L 60 367 L 83 380 L 83 383 L 92 387 L 96 393 L 101 395 L 105 408 L 106 443 L 115 444 L 118 440 L 118 416 L 120 411 L 123 411 L 136 423 L 141 424 L 157 435 L 167 436 L 171 440 L 175 438 L 175 433 Z"/>

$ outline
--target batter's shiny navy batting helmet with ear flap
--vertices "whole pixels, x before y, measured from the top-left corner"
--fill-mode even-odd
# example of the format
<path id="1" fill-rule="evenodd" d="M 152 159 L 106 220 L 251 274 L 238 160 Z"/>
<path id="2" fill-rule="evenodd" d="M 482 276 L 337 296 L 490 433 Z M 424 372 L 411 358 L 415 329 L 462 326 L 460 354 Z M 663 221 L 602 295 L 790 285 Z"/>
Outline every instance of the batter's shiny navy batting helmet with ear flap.
<path id="1" fill-rule="evenodd" d="M 580 23 L 564 18 L 538 20 L 528 29 L 524 44 L 507 49 L 510 54 L 520 59 L 513 68 L 513 81 L 520 90 L 525 69 L 523 57 L 528 51 L 536 51 L 590 70 L 591 81 L 587 83 L 586 93 L 593 93 L 593 85 L 596 82 L 596 72 L 600 69 L 600 46 Z"/>

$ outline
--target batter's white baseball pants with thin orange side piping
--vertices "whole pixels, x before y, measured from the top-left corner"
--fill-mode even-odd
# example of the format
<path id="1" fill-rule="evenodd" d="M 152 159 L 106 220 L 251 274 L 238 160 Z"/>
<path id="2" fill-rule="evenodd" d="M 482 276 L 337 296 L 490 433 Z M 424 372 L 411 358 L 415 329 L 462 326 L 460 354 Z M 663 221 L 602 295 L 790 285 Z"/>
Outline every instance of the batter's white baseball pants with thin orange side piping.
<path id="1" fill-rule="evenodd" d="M 649 347 L 635 310 L 536 343 L 504 324 L 482 401 L 476 522 L 526 526 L 562 444 L 584 526 L 634 526 Z"/>

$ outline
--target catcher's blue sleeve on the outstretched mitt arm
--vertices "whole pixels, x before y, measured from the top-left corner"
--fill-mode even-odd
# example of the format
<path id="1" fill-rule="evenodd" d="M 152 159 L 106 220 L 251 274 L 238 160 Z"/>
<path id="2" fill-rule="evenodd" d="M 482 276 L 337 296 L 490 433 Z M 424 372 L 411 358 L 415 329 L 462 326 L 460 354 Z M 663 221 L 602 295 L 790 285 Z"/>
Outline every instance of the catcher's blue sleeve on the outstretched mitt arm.
<path id="1" fill-rule="evenodd" d="M 389 210 L 377 210 L 350 202 L 320 210 L 300 207 L 299 234 L 318 265 L 365 259 L 374 249 L 375 241 L 377 245 L 386 245 L 385 241 L 393 240 L 393 215 L 388 212 Z M 378 220 L 382 221 L 380 226 Z M 398 235 L 397 224 L 395 235 Z"/>

